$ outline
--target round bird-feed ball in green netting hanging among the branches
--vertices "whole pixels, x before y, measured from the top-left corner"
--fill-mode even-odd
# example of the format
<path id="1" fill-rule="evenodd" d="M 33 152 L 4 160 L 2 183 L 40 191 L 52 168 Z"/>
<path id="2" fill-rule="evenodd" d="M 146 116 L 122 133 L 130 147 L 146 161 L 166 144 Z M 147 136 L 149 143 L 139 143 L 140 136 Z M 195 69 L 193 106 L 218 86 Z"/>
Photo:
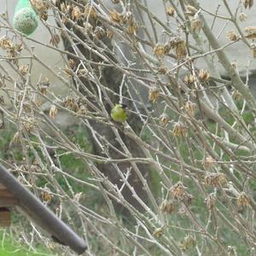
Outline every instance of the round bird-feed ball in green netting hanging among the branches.
<path id="1" fill-rule="evenodd" d="M 38 15 L 29 0 L 20 0 L 15 7 L 14 27 L 17 31 L 32 34 L 38 27 Z"/>

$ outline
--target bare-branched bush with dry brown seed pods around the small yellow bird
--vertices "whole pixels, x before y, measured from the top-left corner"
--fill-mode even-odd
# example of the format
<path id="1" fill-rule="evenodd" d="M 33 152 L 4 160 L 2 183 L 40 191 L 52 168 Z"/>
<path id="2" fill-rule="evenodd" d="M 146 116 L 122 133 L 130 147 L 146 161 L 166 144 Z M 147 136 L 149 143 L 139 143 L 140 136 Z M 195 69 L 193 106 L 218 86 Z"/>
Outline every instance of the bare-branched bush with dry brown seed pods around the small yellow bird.
<path id="1" fill-rule="evenodd" d="M 228 15 L 211 14 L 234 25 L 224 44 L 194 0 L 163 1 L 165 17 L 137 0 L 31 2 L 49 44 L 17 32 L 7 15 L 0 20 L 9 171 L 84 236 L 88 255 L 253 253 L 256 101 L 249 67 L 244 82 L 226 55 L 242 43 L 255 57 L 256 28 L 241 28 L 253 1 L 236 1 L 233 12 L 224 0 Z M 30 42 L 66 66 L 49 67 Z M 61 81 L 57 93 L 43 67 Z M 117 103 L 127 106 L 124 123 L 110 117 Z M 14 224 L 10 232 L 24 230 L 36 252 L 43 235 Z"/>

